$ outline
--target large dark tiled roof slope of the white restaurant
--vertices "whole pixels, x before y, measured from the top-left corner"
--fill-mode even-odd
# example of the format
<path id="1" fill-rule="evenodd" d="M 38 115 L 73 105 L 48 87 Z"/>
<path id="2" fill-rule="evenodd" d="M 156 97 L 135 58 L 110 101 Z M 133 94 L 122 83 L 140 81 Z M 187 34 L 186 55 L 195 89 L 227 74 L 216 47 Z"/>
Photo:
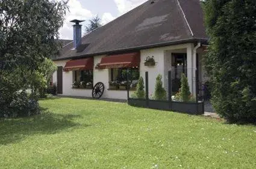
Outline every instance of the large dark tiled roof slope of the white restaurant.
<path id="1" fill-rule="evenodd" d="M 68 44 L 57 59 L 130 52 L 185 42 L 207 41 L 199 0 L 152 0 Z M 184 17 L 184 14 L 186 19 Z M 189 24 L 187 24 L 189 23 Z M 83 50 L 81 50 L 83 49 Z"/>

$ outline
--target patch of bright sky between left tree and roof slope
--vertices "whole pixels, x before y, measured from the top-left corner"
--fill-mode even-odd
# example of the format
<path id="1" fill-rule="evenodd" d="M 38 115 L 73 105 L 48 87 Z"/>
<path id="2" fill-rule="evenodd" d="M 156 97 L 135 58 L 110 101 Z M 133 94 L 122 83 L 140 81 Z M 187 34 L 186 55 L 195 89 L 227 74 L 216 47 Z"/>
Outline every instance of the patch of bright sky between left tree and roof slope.
<path id="1" fill-rule="evenodd" d="M 72 40 L 73 28 L 70 20 L 89 20 L 97 14 L 102 24 L 110 22 L 127 11 L 132 10 L 147 0 L 69 0 L 69 11 L 65 17 L 63 28 L 60 29 L 60 38 Z M 86 25 L 87 22 L 83 24 Z M 84 28 L 83 28 L 84 29 Z"/>

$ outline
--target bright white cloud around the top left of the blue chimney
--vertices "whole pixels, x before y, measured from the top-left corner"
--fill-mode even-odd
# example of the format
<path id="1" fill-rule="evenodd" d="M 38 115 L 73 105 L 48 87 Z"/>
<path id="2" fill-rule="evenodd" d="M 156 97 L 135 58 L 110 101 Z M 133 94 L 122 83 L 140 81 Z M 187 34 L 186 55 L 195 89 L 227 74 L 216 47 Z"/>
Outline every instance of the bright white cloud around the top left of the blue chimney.
<path id="1" fill-rule="evenodd" d="M 67 11 L 63 27 L 60 29 L 60 38 L 61 39 L 73 39 L 73 23 L 70 20 L 87 20 L 93 17 L 91 11 L 83 8 L 81 3 L 78 0 L 69 0 L 67 3 L 69 6 L 69 11 Z M 83 30 L 83 29 L 82 29 Z"/>

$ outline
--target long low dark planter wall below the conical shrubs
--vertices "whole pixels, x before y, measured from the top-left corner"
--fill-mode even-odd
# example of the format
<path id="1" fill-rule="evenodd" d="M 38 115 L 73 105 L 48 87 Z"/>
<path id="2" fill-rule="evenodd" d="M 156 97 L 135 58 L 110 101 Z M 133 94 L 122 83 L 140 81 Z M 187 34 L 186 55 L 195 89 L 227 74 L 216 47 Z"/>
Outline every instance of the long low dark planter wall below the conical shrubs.
<path id="1" fill-rule="evenodd" d="M 171 103 L 171 104 L 170 104 Z M 204 114 L 204 102 L 169 102 L 146 99 L 128 99 L 128 104 L 136 107 L 153 108 L 157 110 L 177 111 L 188 114 Z"/>

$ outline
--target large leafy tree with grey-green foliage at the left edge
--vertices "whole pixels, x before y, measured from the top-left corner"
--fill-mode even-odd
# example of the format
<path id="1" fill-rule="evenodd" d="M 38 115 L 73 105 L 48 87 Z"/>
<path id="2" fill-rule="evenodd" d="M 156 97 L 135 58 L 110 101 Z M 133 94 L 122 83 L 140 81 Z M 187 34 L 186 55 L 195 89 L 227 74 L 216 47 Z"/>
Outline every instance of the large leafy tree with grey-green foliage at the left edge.
<path id="1" fill-rule="evenodd" d="M 37 102 L 25 89 L 43 85 L 40 65 L 60 47 L 58 29 L 66 9 L 66 2 L 57 0 L 0 1 L 0 117 L 19 116 Z"/>

